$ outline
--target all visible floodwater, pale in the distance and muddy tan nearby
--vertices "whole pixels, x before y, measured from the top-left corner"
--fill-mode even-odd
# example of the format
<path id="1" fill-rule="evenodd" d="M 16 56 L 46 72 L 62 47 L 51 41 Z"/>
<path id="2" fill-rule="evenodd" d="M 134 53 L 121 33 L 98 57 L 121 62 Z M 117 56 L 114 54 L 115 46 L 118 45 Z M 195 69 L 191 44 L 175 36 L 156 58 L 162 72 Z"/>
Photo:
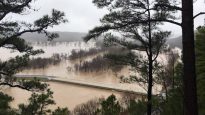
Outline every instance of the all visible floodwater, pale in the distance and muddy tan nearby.
<path id="1" fill-rule="evenodd" d="M 68 42 L 68 43 L 55 43 L 55 44 L 34 44 L 35 49 L 43 49 L 44 54 L 38 55 L 37 57 L 51 57 L 54 53 L 58 54 L 71 54 L 73 49 L 75 50 L 89 50 L 94 48 L 95 43 L 83 43 L 83 42 Z M 18 52 L 13 52 L 12 50 L 0 48 L 0 59 L 8 60 L 10 57 L 18 55 Z M 36 56 L 35 56 L 36 57 Z M 98 73 L 80 73 L 76 71 L 68 71 L 67 67 L 73 67 L 75 63 L 70 60 L 64 60 L 58 65 L 52 65 L 44 69 L 35 70 L 24 70 L 19 75 L 46 75 L 46 76 L 56 76 L 63 79 L 74 79 L 86 82 L 95 82 L 99 84 L 111 84 L 117 85 L 118 87 L 126 87 L 128 90 L 146 92 L 143 87 L 137 84 L 122 84 L 117 76 L 120 75 L 130 75 L 129 69 L 124 68 L 121 72 L 113 73 L 111 71 L 98 72 Z M 50 88 L 54 91 L 54 100 L 57 106 L 69 107 L 73 109 L 76 105 L 84 103 L 93 98 L 107 97 L 111 94 L 120 97 L 119 92 L 113 92 L 110 90 L 104 90 L 99 88 L 91 88 L 85 86 L 77 86 L 71 84 L 49 82 Z M 154 92 L 159 92 L 161 87 L 155 87 Z M 5 93 L 14 97 L 12 102 L 13 107 L 17 107 L 19 103 L 25 103 L 31 92 L 27 92 L 18 88 L 6 88 L 3 90 Z M 53 108 L 53 107 L 51 107 Z"/>

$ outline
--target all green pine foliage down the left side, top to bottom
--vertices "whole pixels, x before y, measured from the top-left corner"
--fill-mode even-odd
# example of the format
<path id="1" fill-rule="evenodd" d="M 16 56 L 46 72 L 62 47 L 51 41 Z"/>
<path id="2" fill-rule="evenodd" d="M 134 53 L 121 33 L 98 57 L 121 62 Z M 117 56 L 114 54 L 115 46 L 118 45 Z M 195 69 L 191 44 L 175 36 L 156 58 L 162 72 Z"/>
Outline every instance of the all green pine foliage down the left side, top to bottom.
<path id="1" fill-rule="evenodd" d="M 51 15 L 44 15 L 42 18 L 34 21 L 34 23 L 27 23 L 26 20 L 12 21 L 5 19 L 7 15 L 22 15 L 28 14 L 27 12 L 33 11 L 31 3 L 35 0 L 1 0 L 0 2 L 0 48 L 11 49 L 21 53 L 21 56 L 0 61 L 0 86 L 7 85 L 10 87 L 17 87 L 28 91 L 44 91 L 47 84 L 40 83 L 39 80 L 17 80 L 13 77 L 28 64 L 29 57 L 43 53 L 42 50 L 34 50 L 32 46 L 28 45 L 21 35 L 28 32 L 44 33 L 48 40 L 58 37 L 56 33 L 47 31 L 48 27 L 54 27 L 60 23 L 65 23 L 65 14 L 61 11 L 53 9 Z M 29 98 L 29 104 L 19 105 L 21 115 L 44 115 L 51 111 L 47 109 L 48 105 L 55 104 L 52 100 L 50 90 L 47 93 L 37 94 L 33 93 Z M 9 115 L 10 111 L 9 102 L 12 98 L 8 95 L 0 94 L 0 114 Z M 18 112 L 19 112 L 18 111 Z M 58 109 L 56 112 L 66 112 L 65 109 Z M 11 113 L 15 115 L 16 113 Z"/>

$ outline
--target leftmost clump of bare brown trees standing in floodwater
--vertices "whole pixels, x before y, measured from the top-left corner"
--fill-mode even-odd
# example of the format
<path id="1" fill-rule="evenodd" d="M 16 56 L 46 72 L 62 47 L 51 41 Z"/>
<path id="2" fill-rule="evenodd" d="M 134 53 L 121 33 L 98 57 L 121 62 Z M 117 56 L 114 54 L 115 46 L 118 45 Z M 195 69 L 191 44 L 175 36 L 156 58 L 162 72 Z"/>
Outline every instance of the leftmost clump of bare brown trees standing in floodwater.
<path id="1" fill-rule="evenodd" d="M 32 58 L 30 59 L 28 66 L 24 67 L 24 69 L 44 69 L 50 65 L 59 64 L 61 60 L 62 56 L 59 54 L 53 54 L 53 56 L 49 58 Z"/>

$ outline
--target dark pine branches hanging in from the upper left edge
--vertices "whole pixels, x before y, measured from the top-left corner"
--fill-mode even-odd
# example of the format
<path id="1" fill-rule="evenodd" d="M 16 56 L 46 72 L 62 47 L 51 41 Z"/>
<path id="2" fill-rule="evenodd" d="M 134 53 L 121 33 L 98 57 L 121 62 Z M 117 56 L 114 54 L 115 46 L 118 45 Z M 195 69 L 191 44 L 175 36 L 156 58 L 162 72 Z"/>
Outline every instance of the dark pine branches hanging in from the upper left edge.
<path id="1" fill-rule="evenodd" d="M 21 67 L 29 61 L 30 55 L 41 53 L 41 50 L 33 50 L 21 35 L 28 32 L 44 33 L 49 40 L 58 37 L 56 33 L 49 33 L 46 29 L 65 23 L 65 14 L 63 12 L 52 10 L 51 16 L 44 15 L 34 23 L 27 23 L 25 20 L 12 21 L 6 18 L 8 15 L 28 14 L 25 12 L 33 10 L 31 3 L 35 0 L 1 0 L 0 1 L 0 47 L 17 50 L 23 56 L 17 56 L 7 61 L 0 61 L 0 85 L 10 87 L 19 87 L 26 90 L 37 88 L 38 81 L 15 82 L 13 74 L 19 72 Z M 14 83 L 15 82 L 15 83 Z M 41 87 L 43 88 L 43 87 Z"/>

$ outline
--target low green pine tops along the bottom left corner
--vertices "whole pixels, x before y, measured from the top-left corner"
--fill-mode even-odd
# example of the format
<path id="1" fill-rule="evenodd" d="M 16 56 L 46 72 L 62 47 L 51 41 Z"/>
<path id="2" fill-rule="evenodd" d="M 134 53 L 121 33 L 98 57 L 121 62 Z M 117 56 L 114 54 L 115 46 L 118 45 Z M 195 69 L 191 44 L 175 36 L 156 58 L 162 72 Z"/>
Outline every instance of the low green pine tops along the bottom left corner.
<path id="1" fill-rule="evenodd" d="M 13 98 L 0 92 L 0 115 L 70 115 L 68 108 L 58 107 L 54 111 L 48 109 L 54 105 L 53 92 L 49 89 L 43 93 L 33 93 L 28 104 L 20 104 L 18 109 L 9 106 Z"/>

